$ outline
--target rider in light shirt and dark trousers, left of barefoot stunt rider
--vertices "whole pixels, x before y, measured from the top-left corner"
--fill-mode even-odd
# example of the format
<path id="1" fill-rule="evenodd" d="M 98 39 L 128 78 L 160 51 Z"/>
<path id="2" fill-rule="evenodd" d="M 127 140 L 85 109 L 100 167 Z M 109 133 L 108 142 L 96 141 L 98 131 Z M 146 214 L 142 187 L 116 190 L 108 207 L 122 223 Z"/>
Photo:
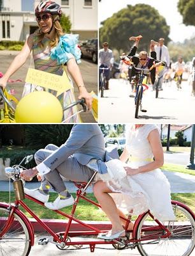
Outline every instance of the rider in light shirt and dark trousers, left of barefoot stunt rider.
<path id="1" fill-rule="evenodd" d="M 103 43 L 103 49 L 99 50 L 100 68 L 110 68 L 105 70 L 106 86 L 105 90 L 109 89 L 110 72 L 113 67 L 113 52 L 108 48 L 108 42 Z M 99 76 L 103 70 L 99 70 Z"/>

